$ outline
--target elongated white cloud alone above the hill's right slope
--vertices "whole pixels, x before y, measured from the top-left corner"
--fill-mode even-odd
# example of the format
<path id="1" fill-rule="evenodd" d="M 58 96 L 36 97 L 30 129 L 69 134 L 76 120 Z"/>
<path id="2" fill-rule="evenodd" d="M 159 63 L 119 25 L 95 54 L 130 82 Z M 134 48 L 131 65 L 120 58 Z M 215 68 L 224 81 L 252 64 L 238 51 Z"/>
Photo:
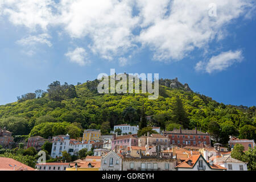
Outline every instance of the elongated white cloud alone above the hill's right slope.
<path id="1" fill-rule="evenodd" d="M 212 56 L 208 62 L 199 61 L 195 69 L 196 71 L 205 71 L 208 73 L 224 71 L 234 63 L 240 63 L 242 60 L 242 51 L 221 52 L 217 56 Z"/>

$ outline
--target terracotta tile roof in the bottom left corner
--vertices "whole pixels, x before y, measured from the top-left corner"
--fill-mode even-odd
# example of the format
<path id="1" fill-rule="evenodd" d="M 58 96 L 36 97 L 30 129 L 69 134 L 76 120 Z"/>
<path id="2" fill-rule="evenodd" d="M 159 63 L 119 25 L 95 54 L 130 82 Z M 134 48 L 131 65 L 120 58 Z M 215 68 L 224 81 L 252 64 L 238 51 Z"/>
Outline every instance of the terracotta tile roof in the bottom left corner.
<path id="1" fill-rule="evenodd" d="M 11 166 L 16 165 L 15 171 L 19 171 L 19 170 L 35 171 L 34 168 L 29 167 L 26 164 L 20 163 L 17 160 L 0 157 L 0 171 L 13 171 L 14 167 L 9 166 L 9 164 Z"/>

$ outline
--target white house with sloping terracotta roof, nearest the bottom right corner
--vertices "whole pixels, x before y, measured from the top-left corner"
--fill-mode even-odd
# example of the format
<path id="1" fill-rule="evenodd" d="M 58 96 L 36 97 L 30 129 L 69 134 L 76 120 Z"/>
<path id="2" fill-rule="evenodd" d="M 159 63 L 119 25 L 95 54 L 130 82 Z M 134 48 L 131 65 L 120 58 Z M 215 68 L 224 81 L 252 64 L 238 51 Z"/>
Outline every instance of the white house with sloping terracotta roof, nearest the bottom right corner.
<path id="1" fill-rule="evenodd" d="M 230 155 L 216 158 L 213 162 L 227 168 L 227 171 L 247 171 L 247 163 L 234 159 Z"/>

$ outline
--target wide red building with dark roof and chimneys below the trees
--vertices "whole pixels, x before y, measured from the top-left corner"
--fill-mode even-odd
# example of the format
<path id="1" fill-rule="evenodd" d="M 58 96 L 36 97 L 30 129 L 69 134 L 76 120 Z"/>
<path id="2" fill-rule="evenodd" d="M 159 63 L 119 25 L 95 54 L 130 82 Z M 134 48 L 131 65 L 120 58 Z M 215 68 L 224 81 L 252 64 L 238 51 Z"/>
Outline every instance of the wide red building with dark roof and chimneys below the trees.
<path id="1" fill-rule="evenodd" d="M 164 131 L 164 135 L 168 136 L 171 144 L 176 146 L 208 146 L 210 145 L 210 135 L 201 131 L 174 129 L 173 131 Z"/>

